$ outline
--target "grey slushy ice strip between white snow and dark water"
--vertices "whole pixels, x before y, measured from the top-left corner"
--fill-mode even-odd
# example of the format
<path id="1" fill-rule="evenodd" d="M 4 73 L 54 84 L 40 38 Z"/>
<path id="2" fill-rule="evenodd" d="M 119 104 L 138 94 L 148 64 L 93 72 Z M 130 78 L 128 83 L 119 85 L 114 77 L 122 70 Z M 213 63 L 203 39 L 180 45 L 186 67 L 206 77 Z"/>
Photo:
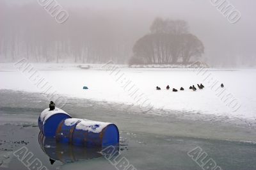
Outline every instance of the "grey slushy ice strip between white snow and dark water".
<path id="1" fill-rule="evenodd" d="M 37 126 L 38 116 L 49 102 L 38 93 L 0 90 L 0 94 L 0 125 Z M 125 131 L 256 142 L 256 121 L 241 118 L 182 111 L 169 111 L 169 114 L 161 115 L 157 114 L 161 113 L 157 109 L 145 114 L 140 107 L 134 105 L 102 103 L 81 98 L 68 98 L 63 110 L 76 118 L 111 121 Z M 146 122 L 147 126 L 143 126 Z M 252 134 L 249 135 L 248 132 Z"/>

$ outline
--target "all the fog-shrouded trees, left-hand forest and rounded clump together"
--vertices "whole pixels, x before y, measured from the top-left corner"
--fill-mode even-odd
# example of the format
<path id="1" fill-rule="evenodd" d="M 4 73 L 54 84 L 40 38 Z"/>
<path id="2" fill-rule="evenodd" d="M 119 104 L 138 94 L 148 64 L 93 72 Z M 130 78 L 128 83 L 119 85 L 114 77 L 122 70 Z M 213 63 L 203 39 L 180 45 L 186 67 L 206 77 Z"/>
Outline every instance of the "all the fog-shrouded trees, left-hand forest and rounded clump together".
<path id="1" fill-rule="evenodd" d="M 123 26 L 92 13 L 70 13 L 67 22 L 58 24 L 40 6 L 31 10 L 29 4 L 2 3 L 0 8 L 0 61 L 170 64 L 188 63 L 204 52 L 183 20 L 157 18 L 138 40 L 139 34 L 128 32 L 131 23 Z"/>

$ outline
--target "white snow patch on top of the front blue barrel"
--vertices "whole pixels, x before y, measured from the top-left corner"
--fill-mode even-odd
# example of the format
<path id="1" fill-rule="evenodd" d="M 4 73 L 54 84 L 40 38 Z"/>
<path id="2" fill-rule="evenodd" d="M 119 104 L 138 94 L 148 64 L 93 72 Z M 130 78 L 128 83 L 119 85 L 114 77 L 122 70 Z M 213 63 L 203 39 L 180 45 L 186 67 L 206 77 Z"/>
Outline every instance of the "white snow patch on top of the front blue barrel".
<path id="1" fill-rule="evenodd" d="M 81 120 L 77 125 L 77 130 L 86 130 L 88 132 L 100 133 L 103 128 L 107 127 L 112 123 L 93 121 L 93 120 Z"/>

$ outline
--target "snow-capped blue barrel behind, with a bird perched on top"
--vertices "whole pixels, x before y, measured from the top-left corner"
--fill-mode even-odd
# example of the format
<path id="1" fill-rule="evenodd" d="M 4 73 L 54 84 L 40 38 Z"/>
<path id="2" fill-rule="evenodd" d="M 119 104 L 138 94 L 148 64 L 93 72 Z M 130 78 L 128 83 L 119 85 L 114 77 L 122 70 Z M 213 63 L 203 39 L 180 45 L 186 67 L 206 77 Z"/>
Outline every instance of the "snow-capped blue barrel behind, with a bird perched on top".
<path id="1" fill-rule="evenodd" d="M 57 107 L 54 111 L 45 109 L 38 118 L 38 127 L 46 137 L 54 137 L 59 123 L 67 118 L 71 116 Z"/>

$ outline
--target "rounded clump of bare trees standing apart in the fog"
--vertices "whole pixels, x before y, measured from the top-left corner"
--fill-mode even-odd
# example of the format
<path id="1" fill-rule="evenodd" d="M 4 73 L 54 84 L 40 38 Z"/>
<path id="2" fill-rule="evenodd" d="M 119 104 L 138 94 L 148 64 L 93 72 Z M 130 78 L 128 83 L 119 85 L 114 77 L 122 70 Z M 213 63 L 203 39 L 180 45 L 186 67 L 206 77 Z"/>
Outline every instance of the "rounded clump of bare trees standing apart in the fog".
<path id="1" fill-rule="evenodd" d="M 204 53 L 203 43 L 188 31 L 184 20 L 157 18 L 150 33 L 133 47 L 132 64 L 188 64 Z"/>

